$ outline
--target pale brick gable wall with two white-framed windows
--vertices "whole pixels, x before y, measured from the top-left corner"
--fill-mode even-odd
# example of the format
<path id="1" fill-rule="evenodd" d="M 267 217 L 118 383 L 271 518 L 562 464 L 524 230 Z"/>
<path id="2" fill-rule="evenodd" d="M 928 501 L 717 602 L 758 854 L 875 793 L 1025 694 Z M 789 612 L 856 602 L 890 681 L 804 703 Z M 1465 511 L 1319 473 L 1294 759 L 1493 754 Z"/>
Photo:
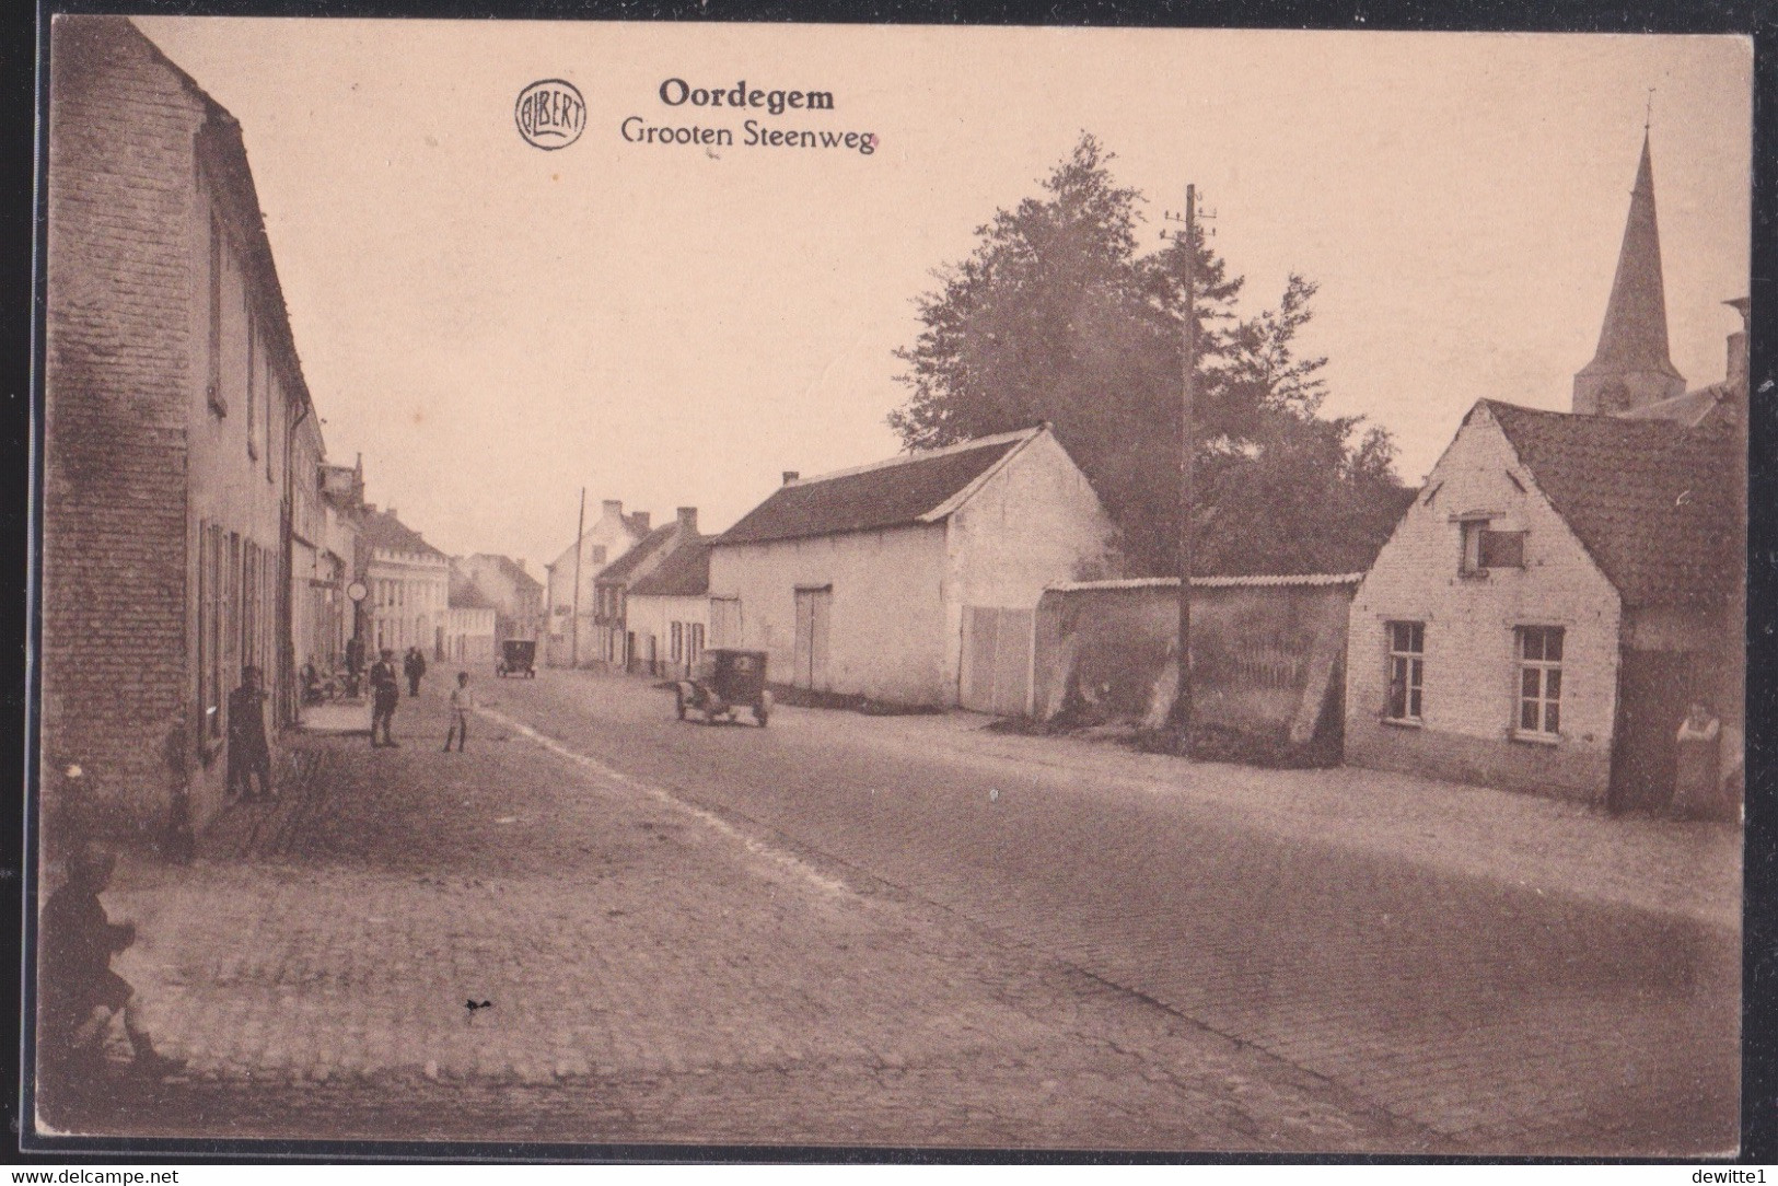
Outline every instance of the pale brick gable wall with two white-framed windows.
<path id="1" fill-rule="evenodd" d="M 1453 516 L 1526 532 L 1522 569 L 1462 576 Z M 1419 727 L 1385 724 L 1390 621 L 1424 622 Z M 1602 802 L 1611 772 L 1622 606 L 1486 411 L 1426 480 L 1358 587 L 1348 626 L 1346 761 Z M 1515 734 L 1517 626 L 1561 626 L 1561 736 Z"/>

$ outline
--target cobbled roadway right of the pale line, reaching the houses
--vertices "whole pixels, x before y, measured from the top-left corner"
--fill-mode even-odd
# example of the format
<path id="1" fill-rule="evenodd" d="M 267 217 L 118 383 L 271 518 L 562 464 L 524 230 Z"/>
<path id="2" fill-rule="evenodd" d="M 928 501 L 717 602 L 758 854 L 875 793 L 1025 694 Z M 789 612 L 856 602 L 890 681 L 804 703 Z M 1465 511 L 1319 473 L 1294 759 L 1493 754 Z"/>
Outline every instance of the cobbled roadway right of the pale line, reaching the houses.
<path id="1" fill-rule="evenodd" d="M 1741 834 L 1369 770 L 1184 765 L 969 713 L 672 722 L 635 679 L 519 718 L 1337 1083 L 1438 1147 L 1734 1143 Z"/>

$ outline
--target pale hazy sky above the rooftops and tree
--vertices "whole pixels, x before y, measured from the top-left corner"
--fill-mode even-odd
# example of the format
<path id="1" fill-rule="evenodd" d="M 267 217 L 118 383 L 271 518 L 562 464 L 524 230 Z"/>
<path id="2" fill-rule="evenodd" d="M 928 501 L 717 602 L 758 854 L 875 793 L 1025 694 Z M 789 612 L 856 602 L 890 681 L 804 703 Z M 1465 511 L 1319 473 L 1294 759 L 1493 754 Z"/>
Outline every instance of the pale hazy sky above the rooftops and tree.
<path id="1" fill-rule="evenodd" d="M 1568 409 L 1598 341 L 1652 100 L 1673 363 L 1723 377 L 1748 293 L 1739 37 L 139 18 L 242 124 L 332 461 L 450 553 L 569 548 L 580 491 L 697 507 L 894 455 L 916 299 L 1083 130 L 1186 183 L 1246 277 L 1300 272 L 1328 414 L 1414 484 L 1479 398 Z M 519 92 L 565 78 L 578 140 Z M 827 91 L 832 110 L 669 107 L 661 85 Z M 677 94 L 676 89 L 669 89 Z M 626 142 L 729 128 L 733 146 Z M 869 132 L 877 151 L 745 146 Z"/>

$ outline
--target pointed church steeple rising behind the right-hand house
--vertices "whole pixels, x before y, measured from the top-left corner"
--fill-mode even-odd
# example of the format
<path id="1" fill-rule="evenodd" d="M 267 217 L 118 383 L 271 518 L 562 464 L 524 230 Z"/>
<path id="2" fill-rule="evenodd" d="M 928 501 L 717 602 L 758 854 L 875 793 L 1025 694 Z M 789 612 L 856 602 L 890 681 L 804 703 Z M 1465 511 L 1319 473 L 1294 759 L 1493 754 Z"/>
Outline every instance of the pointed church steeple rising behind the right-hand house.
<path id="1" fill-rule="evenodd" d="M 1661 231 L 1655 226 L 1655 174 L 1643 130 L 1643 160 L 1630 190 L 1618 276 L 1611 281 L 1598 350 L 1574 377 L 1574 411 L 1623 413 L 1686 391 L 1666 338 L 1666 292 L 1661 283 Z"/>

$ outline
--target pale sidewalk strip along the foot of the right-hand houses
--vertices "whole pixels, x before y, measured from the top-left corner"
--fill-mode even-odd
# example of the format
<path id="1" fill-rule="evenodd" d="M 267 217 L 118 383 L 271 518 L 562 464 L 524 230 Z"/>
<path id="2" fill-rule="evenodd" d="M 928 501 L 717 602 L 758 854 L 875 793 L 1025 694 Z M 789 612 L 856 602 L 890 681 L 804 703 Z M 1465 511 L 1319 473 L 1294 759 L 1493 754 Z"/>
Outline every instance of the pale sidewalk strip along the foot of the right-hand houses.
<path id="1" fill-rule="evenodd" d="M 782 713 L 773 725 L 797 727 Z M 821 729 L 903 752 L 946 752 L 1088 775 L 1179 804 L 1227 809 L 1268 834 L 1396 855 L 1552 894 L 1684 916 L 1739 934 L 1741 829 L 1611 818 L 1572 802 L 1382 770 L 1259 770 L 1188 763 L 1109 741 L 989 733 L 989 717 L 820 713 Z"/>

